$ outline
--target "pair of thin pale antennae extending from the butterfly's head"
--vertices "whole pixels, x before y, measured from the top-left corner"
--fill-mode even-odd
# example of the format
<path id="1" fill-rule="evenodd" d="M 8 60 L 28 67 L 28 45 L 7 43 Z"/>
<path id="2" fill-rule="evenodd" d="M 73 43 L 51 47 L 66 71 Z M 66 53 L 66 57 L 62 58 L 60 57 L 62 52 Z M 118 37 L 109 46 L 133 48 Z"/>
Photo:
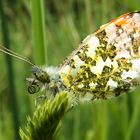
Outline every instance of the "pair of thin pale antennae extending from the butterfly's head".
<path id="1" fill-rule="evenodd" d="M 8 55 L 10 55 L 10 56 L 13 56 L 13 57 L 15 57 L 15 58 L 18 58 L 18 59 L 20 59 L 20 60 L 22 60 L 22 61 L 24 61 L 24 62 L 26 62 L 26 63 L 28 63 L 28 64 L 30 64 L 30 65 L 32 65 L 32 66 L 35 66 L 35 64 L 33 64 L 33 63 L 32 63 L 30 60 L 28 60 L 27 58 L 23 58 L 23 57 L 20 56 L 19 54 L 15 53 L 15 52 L 13 52 L 13 51 L 11 51 L 11 50 L 5 48 L 5 47 L 0 46 L 0 51 L 3 52 L 3 53 L 5 53 L 5 54 L 8 54 Z"/>

